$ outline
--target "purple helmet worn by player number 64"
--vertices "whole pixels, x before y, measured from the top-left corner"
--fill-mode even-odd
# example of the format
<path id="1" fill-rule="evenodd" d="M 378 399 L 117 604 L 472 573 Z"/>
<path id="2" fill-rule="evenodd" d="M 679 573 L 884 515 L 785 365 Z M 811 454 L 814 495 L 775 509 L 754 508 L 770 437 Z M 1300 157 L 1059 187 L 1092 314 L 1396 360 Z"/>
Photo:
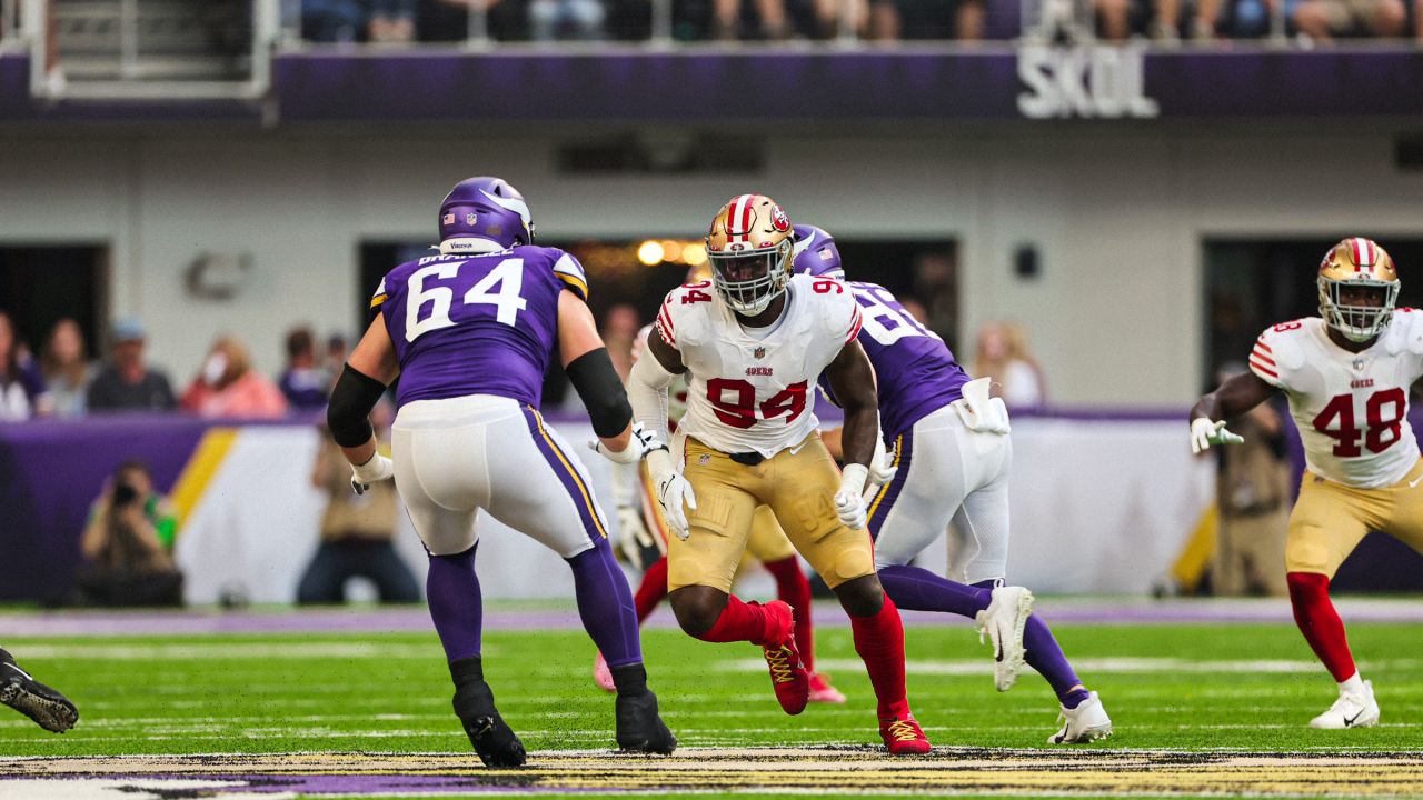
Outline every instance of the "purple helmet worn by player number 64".
<path id="1" fill-rule="evenodd" d="M 440 249 L 508 249 L 534 243 L 528 202 L 504 178 L 481 175 L 460 181 L 440 204 Z"/>

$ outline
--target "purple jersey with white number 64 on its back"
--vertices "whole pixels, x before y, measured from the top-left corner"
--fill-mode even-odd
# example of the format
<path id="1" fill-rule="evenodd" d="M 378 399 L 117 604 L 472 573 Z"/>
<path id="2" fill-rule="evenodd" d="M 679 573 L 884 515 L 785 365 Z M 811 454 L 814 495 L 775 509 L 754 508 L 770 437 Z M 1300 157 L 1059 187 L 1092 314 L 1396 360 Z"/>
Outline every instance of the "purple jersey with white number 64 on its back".
<path id="1" fill-rule="evenodd" d="M 565 289 L 588 299 L 583 268 L 532 245 L 390 270 L 370 305 L 384 315 L 400 360 L 397 404 L 497 394 L 538 407 Z"/>

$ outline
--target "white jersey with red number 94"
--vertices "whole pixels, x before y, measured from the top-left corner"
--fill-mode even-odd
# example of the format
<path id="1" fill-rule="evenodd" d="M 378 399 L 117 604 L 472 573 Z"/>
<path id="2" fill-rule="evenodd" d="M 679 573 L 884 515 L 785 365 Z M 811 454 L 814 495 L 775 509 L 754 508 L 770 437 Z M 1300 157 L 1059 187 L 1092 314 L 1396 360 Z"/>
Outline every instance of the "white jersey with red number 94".
<path id="1" fill-rule="evenodd" d="M 673 289 L 656 329 L 689 373 L 679 433 L 723 453 L 767 458 L 800 444 L 818 427 L 815 379 L 859 323 L 859 303 L 830 278 L 791 278 L 785 310 L 764 329 L 743 327 L 710 280 Z"/>

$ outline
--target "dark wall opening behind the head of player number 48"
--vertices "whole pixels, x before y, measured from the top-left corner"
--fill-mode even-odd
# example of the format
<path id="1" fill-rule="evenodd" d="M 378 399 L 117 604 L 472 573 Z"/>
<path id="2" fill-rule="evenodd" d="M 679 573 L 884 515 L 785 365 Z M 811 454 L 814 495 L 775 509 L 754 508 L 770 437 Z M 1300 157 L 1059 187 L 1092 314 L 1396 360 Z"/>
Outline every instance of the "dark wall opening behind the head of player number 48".
<path id="1" fill-rule="evenodd" d="M 1215 370 L 1244 362 L 1255 337 L 1271 325 L 1319 316 L 1315 283 L 1319 259 L 1348 236 L 1312 239 L 1208 239 L 1205 242 L 1205 363 L 1202 390 Z M 1379 238 L 1399 265 L 1399 307 L 1423 307 L 1423 280 L 1409 279 L 1423 263 L 1423 239 Z"/>

